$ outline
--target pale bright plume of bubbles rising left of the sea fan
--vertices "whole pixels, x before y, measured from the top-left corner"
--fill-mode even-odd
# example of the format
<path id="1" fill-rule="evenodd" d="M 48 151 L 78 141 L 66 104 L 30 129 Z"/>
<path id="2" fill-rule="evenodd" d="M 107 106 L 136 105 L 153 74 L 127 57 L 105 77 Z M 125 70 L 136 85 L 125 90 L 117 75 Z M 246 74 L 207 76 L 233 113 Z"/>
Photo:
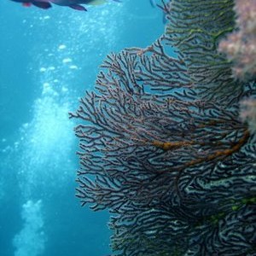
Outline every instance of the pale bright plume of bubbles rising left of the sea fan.
<path id="1" fill-rule="evenodd" d="M 55 8 L 49 15 L 32 9 L 34 16 L 23 20 L 22 26 L 27 28 L 24 38 L 37 35 L 28 54 L 31 61 L 25 67 L 37 97 L 30 108 L 30 119 L 20 127 L 19 139 L 13 148 L 5 149 L 10 152 L 9 159 L 14 159 L 12 168 L 23 203 L 23 224 L 13 236 L 15 256 L 44 253 L 48 220 L 42 213 L 42 201 L 44 211 L 51 216 L 56 212 L 54 207 L 49 208 L 55 206 L 52 198 L 71 187 L 75 179 L 76 138 L 68 112 L 77 106 L 82 95 L 79 88 L 84 92 L 85 86 L 92 87 L 97 65 L 118 42 L 122 22 L 116 15 L 122 16 L 120 6 L 113 3 L 107 7 L 88 13 Z"/>

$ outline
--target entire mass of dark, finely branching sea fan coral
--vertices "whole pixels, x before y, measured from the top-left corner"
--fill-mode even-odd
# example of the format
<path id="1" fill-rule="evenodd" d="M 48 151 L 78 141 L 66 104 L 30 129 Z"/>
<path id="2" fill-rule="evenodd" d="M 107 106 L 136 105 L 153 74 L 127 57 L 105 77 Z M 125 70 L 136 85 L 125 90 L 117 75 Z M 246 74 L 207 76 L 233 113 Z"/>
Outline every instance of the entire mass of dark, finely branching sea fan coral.
<path id="1" fill-rule="evenodd" d="M 81 121 L 77 196 L 111 212 L 113 255 L 256 255 L 255 33 L 245 6 L 256 2 L 163 3 L 165 34 L 108 55 L 96 90 L 70 114 Z"/>

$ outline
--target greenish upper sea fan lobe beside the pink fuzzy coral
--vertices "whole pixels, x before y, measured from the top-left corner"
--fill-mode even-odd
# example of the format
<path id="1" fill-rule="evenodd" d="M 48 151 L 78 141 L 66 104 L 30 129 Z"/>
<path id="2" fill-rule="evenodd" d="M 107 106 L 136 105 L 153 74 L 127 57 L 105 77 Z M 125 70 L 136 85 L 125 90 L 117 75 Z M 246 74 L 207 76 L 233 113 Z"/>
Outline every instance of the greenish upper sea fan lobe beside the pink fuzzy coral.
<path id="1" fill-rule="evenodd" d="M 167 15 L 166 35 L 183 53 L 190 79 L 201 96 L 222 104 L 241 93 L 241 83 L 231 79 L 230 61 L 218 53 L 220 39 L 234 29 L 233 7 L 233 0 L 176 0 Z"/>

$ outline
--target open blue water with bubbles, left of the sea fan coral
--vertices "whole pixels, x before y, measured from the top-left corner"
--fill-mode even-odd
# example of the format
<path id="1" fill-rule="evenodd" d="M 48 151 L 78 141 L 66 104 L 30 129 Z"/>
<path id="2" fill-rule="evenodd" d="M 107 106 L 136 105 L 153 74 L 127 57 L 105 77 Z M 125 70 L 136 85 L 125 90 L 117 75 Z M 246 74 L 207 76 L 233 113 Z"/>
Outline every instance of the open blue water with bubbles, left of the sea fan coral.
<path id="1" fill-rule="evenodd" d="M 0 256 L 106 256 L 108 212 L 81 208 L 68 112 L 110 52 L 164 31 L 149 0 L 88 12 L 0 1 Z"/>

